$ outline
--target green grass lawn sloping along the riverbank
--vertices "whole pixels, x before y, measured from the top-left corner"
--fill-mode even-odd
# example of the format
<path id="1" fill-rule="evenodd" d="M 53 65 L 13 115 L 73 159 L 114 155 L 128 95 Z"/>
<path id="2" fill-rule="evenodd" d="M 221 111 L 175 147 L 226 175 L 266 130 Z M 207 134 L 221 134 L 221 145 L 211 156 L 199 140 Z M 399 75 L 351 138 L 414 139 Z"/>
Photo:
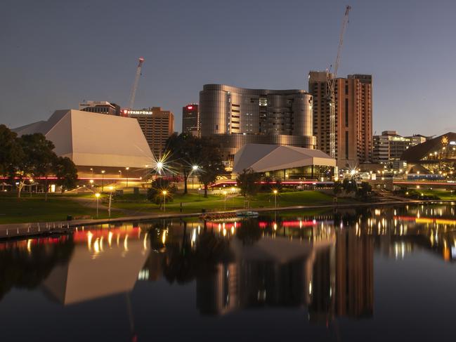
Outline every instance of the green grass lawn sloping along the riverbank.
<path id="1" fill-rule="evenodd" d="M 93 200 L 91 203 L 90 201 Z M 85 202 L 84 202 L 85 201 Z M 96 208 L 88 206 L 95 204 L 93 195 L 75 194 L 49 194 L 48 200 L 44 200 L 43 194 L 22 194 L 18 199 L 13 194 L 0 194 L 0 224 L 2 223 L 27 223 L 46 221 L 65 221 L 67 216 L 80 217 L 91 216 L 96 218 Z M 351 200 L 339 200 L 347 202 Z M 207 198 L 196 193 L 187 195 L 175 194 L 173 199 L 168 199 L 166 211 L 168 213 L 195 213 L 202 209 L 206 211 L 222 211 L 242 209 L 247 207 L 244 197 L 223 195 L 208 195 Z M 102 206 L 103 204 L 103 206 Z M 277 206 L 298 206 L 312 204 L 332 204 L 332 196 L 318 191 L 282 192 L 277 197 Z M 102 195 L 98 218 L 108 218 L 108 195 Z M 249 208 L 261 208 L 274 206 L 274 195 L 259 193 L 249 200 Z M 143 194 L 126 194 L 113 197 L 112 218 L 132 215 L 147 215 L 151 213 L 163 213 L 157 204 L 148 202 Z"/>

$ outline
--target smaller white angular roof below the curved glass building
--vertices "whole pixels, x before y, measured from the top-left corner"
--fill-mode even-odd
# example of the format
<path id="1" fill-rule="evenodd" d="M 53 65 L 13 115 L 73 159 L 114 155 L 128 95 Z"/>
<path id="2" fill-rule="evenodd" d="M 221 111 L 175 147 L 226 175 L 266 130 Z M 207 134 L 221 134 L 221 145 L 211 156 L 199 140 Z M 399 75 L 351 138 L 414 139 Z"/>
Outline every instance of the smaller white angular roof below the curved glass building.
<path id="1" fill-rule="evenodd" d="M 320 150 L 302 147 L 246 144 L 235 154 L 233 171 L 277 171 L 301 166 L 336 166 L 336 159 Z"/>

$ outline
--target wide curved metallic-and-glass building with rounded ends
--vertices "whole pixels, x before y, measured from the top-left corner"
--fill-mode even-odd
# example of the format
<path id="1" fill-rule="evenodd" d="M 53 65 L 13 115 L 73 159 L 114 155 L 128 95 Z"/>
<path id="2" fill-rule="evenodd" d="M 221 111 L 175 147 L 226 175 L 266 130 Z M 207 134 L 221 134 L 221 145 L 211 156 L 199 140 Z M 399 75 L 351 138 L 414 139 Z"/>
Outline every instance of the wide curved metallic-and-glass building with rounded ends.
<path id="1" fill-rule="evenodd" d="M 315 147 L 312 96 L 303 90 L 206 84 L 200 91 L 200 134 L 221 146 L 226 167 L 246 143 Z"/>

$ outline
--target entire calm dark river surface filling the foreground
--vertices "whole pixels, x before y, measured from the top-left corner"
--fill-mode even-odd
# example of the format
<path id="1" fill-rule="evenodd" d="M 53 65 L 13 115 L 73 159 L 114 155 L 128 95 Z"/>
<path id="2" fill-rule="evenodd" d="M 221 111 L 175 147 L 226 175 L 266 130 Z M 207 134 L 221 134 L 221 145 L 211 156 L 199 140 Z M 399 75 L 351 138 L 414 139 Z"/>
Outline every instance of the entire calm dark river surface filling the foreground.
<path id="1" fill-rule="evenodd" d="M 1 341 L 454 341 L 454 206 L 0 244 Z"/>

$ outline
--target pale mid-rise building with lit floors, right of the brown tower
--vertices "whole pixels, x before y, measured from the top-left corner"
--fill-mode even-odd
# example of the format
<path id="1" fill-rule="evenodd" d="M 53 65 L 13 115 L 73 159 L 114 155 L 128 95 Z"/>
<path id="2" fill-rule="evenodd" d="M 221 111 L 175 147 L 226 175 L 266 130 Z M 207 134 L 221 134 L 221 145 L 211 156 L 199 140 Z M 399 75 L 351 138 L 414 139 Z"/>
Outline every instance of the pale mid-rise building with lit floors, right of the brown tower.
<path id="1" fill-rule="evenodd" d="M 400 136 L 397 131 L 383 131 L 382 135 L 372 138 L 372 162 L 391 164 L 399 161 L 409 147 L 424 143 L 426 137 Z"/>

